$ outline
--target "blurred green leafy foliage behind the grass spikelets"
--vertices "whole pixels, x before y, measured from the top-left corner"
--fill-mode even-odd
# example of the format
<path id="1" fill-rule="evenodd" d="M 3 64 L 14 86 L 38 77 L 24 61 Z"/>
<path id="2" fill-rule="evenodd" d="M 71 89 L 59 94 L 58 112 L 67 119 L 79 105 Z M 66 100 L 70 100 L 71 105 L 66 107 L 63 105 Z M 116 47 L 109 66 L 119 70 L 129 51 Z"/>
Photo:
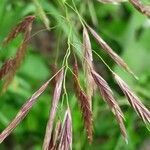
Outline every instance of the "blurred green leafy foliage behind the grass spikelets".
<path id="1" fill-rule="evenodd" d="M 45 10 L 50 26 L 55 26 L 49 33 L 48 39 L 51 47 L 45 52 L 38 49 L 37 38 L 42 36 L 38 33 L 31 39 L 26 58 L 17 72 L 15 79 L 8 91 L 0 97 L 0 130 L 2 131 L 14 118 L 21 105 L 46 81 L 51 75 L 50 65 L 54 63 L 56 51 L 59 49 L 58 65 L 61 65 L 66 45 L 64 41 L 68 35 L 68 24 L 63 18 L 65 10 L 60 1 L 40 1 Z M 71 1 L 69 1 L 70 4 Z M 76 0 L 75 4 L 83 18 L 100 33 L 113 49 L 128 63 L 138 75 L 136 81 L 130 75 L 117 67 L 108 55 L 103 53 L 93 39 L 92 46 L 105 61 L 115 70 L 141 97 L 142 102 L 150 106 L 150 20 L 137 12 L 129 3 L 120 5 L 101 4 L 96 0 Z M 81 24 L 73 10 L 68 8 L 71 17 L 71 25 L 74 29 L 74 44 L 77 52 L 81 51 L 79 42 L 82 38 Z M 32 1 L 27 0 L 0 0 L 0 42 L 4 40 L 11 28 L 15 26 L 24 16 L 36 14 Z M 37 16 L 34 29 L 39 26 L 44 28 L 43 23 Z M 41 29 L 41 28 L 40 28 Z M 33 32 L 36 33 L 38 30 Z M 44 33 L 46 31 L 43 31 Z M 46 33 L 45 33 L 46 34 Z M 0 65 L 13 56 L 21 41 L 21 36 L 6 47 L 0 48 Z M 41 43 L 45 39 L 41 40 Z M 59 42 L 58 42 L 59 41 Z M 39 42 L 39 41 L 38 41 Z M 53 43 L 54 42 L 54 43 Z M 78 43 L 77 43 L 78 42 Z M 59 43 L 59 44 L 58 44 Z M 73 119 L 73 149 L 74 150 L 146 150 L 143 148 L 145 141 L 150 147 L 150 134 L 144 123 L 131 109 L 127 100 L 114 83 L 107 68 L 94 55 L 95 66 L 110 86 L 116 91 L 116 96 L 121 108 L 125 113 L 126 127 L 128 132 L 128 145 L 123 141 L 119 127 L 110 110 L 106 107 L 98 92 L 93 99 L 94 114 L 94 141 L 91 145 L 87 143 L 83 129 L 81 114 L 72 87 L 72 76 L 67 78 L 67 91 L 72 110 Z M 83 70 L 80 79 L 84 81 Z M 2 81 L 0 82 L 2 86 Z M 52 88 L 49 88 L 34 105 L 24 121 L 13 131 L 13 133 L 0 145 L 0 150 L 40 150 L 44 138 L 46 122 L 50 109 Z"/>

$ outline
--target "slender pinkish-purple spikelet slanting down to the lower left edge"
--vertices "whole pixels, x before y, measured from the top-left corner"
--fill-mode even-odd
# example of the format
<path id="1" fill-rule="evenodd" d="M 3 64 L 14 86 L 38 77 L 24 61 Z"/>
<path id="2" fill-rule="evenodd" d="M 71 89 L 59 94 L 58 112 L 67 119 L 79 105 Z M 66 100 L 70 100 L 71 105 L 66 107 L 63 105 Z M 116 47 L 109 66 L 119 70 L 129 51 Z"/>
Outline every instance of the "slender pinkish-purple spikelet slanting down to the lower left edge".
<path id="1" fill-rule="evenodd" d="M 47 86 L 49 85 L 48 80 L 45 84 L 43 84 L 32 96 L 27 100 L 27 102 L 21 107 L 20 111 L 17 113 L 16 117 L 12 120 L 12 122 L 0 133 L 0 143 L 9 136 L 9 134 L 17 127 L 17 125 L 25 118 L 29 110 L 32 108 L 37 98 L 45 91 Z"/>

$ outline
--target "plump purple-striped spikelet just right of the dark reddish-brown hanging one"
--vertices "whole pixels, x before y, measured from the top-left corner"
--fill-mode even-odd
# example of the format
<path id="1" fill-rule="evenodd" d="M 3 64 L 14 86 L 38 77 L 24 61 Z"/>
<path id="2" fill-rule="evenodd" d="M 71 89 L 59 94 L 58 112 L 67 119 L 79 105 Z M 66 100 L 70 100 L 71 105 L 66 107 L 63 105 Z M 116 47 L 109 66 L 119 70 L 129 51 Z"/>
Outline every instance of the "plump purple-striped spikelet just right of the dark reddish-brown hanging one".
<path id="1" fill-rule="evenodd" d="M 126 129 L 125 129 L 125 126 L 123 123 L 123 120 L 124 120 L 123 113 L 113 96 L 112 90 L 110 89 L 107 82 L 97 72 L 92 70 L 91 74 L 93 76 L 93 79 L 95 80 L 95 83 L 97 84 L 97 86 L 99 88 L 99 91 L 100 91 L 103 99 L 107 102 L 110 109 L 114 113 L 114 115 L 118 121 L 118 124 L 120 126 L 122 136 L 124 137 L 125 141 L 127 141 L 127 133 L 126 133 Z"/>

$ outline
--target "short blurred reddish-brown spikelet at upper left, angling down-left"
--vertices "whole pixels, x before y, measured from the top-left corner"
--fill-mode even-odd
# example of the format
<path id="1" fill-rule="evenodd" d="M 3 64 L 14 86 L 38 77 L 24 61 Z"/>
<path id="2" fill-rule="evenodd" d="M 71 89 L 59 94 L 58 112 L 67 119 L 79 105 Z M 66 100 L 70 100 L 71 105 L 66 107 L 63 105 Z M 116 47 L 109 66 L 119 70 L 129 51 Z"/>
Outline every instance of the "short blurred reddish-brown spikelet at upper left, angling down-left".
<path id="1" fill-rule="evenodd" d="M 33 20 L 35 19 L 35 16 L 27 16 L 24 18 L 23 21 L 18 23 L 15 28 L 11 30 L 11 32 L 8 34 L 8 36 L 5 38 L 3 45 L 8 44 L 10 41 L 12 41 L 14 38 L 18 36 L 20 33 L 24 33 L 28 26 L 32 24 Z"/>

